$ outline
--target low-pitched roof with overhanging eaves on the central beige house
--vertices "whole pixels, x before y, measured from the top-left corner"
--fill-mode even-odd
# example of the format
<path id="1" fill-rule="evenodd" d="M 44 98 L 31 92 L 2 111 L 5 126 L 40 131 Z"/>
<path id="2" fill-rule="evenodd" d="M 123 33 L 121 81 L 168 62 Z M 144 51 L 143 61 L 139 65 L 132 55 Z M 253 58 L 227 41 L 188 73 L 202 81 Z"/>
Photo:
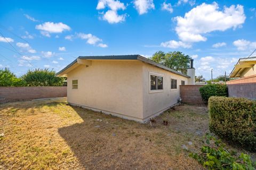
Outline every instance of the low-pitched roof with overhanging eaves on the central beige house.
<path id="1" fill-rule="evenodd" d="M 145 58 L 145 57 L 142 57 L 140 55 L 105 55 L 105 56 L 79 56 L 77 58 L 78 60 L 87 60 L 87 61 L 91 61 L 91 60 L 139 60 L 139 61 L 142 61 L 142 62 L 145 62 L 145 63 L 148 63 L 148 64 L 151 64 L 151 65 L 155 65 L 161 69 L 164 69 L 164 70 L 167 70 L 167 71 L 170 71 L 172 73 L 175 73 L 175 74 L 179 74 L 183 77 L 186 77 L 186 78 L 190 78 L 188 75 L 186 74 L 182 74 L 178 71 L 175 71 L 173 69 L 170 69 L 169 67 L 166 67 L 162 64 L 159 64 L 159 63 L 156 63 L 154 61 L 151 61 L 149 60 L 148 58 Z M 77 59 L 74 60 L 72 63 L 70 63 L 69 65 L 67 65 L 64 69 L 62 69 L 61 71 L 59 71 L 56 75 L 57 76 L 63 76 L 63 75 L 60 75 L 61 73 L 63 73 L 64 71 L 68 72 L 68 70 L 71 68 L 71 69 L 74 69 L 74 67 L 76 67 L 78 65 L 77 63 Z"/>

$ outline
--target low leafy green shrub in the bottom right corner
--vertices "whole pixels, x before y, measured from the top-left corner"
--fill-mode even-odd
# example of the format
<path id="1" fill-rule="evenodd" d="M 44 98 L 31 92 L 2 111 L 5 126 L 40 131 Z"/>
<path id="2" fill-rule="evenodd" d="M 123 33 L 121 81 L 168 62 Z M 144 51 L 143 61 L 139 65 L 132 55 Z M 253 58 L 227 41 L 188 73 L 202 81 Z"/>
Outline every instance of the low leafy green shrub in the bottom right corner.
<path id="1" fill-rule="evenodd" d="M 209 134 L 206 134 L 206 145 L 202 146 L 201 152 L 189 156 L 207 169 L 254 169 L 255 166 L 249 155 L 242 153 L 237 156 L 235 151 L 228 151 L 221 140 Z"/>

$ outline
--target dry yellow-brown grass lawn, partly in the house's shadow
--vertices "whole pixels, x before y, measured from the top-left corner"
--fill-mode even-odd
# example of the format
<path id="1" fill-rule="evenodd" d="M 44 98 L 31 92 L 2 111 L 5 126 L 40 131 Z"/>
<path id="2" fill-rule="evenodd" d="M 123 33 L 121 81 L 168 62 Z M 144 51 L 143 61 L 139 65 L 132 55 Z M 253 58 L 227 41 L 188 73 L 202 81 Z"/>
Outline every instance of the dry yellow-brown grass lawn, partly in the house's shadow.
<path id="1" fill-rule="evenodd" d="M 1 104 L 0 169 L 202 169 L 182 145 L 198 151 L 207 127 L 199 106 L 177 106 L 150 127 L 66 98 Z"/>

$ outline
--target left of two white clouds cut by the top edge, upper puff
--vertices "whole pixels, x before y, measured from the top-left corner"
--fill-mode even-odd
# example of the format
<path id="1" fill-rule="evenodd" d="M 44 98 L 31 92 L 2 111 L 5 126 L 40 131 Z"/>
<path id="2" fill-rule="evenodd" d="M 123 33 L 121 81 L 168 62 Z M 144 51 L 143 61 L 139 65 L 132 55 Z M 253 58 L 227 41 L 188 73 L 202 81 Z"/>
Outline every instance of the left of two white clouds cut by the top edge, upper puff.
<path id="1" fill-rule="evenodd" d="M 97 10 L 102 10 L 105 7 L 109 7 L 113 11 L 117 11 L 119 9 L 125 10 L 124 3 L 120 1 L 114 1 L 114 0 L 99 0 L 98 5 L 96 7 Z"/>

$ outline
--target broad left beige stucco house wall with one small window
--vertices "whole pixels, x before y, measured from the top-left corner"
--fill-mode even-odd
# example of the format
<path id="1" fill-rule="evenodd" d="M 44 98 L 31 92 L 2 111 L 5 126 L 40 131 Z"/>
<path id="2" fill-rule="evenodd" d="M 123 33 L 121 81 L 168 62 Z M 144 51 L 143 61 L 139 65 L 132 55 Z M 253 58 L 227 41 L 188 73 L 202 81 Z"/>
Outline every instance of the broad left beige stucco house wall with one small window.
<path id="1" fill-rule="evenodd" d="M 142 62 L 92 61 L 68 73 L 68 102 L 102 112 L 143 119 Z M 78 79 L 78 90 L 72 80 Z"/>

